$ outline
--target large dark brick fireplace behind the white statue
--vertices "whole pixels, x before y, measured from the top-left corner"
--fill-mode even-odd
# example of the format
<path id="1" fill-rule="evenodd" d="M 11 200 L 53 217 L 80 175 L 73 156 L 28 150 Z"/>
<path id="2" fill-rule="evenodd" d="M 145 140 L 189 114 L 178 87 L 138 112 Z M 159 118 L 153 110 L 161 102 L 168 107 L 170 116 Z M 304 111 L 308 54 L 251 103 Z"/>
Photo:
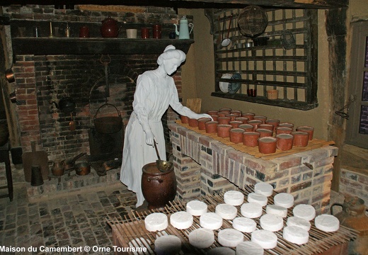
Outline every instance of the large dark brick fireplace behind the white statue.
<path id="1" fill-rule="evenodd" d="M 156 69 L 159 52 L 162 52 L 162 48 L 171 44 L 167 40 L 168 31 L 173 29 L 173 23 L 178 23 L 178 15 L 170 8 L 163 12 L 159 10 L 158 13 L 114 13 L 77 9 L 59 10 L 54 9 L 53 6 L 11 6 L 4 8 L 3 11 L 11 21 L 9 35 L 15 51 L 13 52 L 12 69 L 16 77 L 14 89 L 16 92 L 16 114 L 21 147 L 23 153 L 30 152 L 31 143 L 35 142 L 37 150 L 47 152 L 50 162 L 70 159 L 81 152 L 85 152 L 88 156 L 91 154 L 91 133 L 96 134 L 96 130 L 93 130 L 93 118 L 98 109 L 106 102 L 116 108 L 104 106 L 100 108 L 98 115 L 116 116 L 117 111 L 119 111 L 123 120 L 123 129 L 122 134 L 116 137 L 117 139 L 123 137 L 124 128 L 133 110 L 132 101 L 137 77 L 146 70 Z M 145 47 L 144 53 L 139 53 L 139 50 L 127 52 L 124 49 L 120 51 L 114 48 L 107 50 L 108 53 L 106 54 L 100 54 L 100 47 L 93 49 L 95 46 L 91 46 L 88 47 L 88 50 L 96 50 L 96 54 L 71 54 L 70 49 L 64 49 L 66 53 L 63 53 L 62 47 L 57 49 L 57 52 L 59 52 L 57 54 L 40 54 L 40 52 L 20 54 L 21 50 L 17 47 L 19 41 L 35 39 L 32 38 L 33 35 L 28 34 L 25 35 L 25 38 L 21 38 L 18 34 L 20 26 L 26 27 L 26 31 L 29 32 L 32 31 L 33 26 L 37 25 L 42 28 L 45 34 L 47 33 L 47 24 L 52 20 L 54 26 L 60 28 L 60 37 L 64 37 L 62 29 L 68 23 L 74 31 L 71 37 L 78 38 L 79 26 L 87 23 L 91 28 L 91 37 L 98 38 L 100 37 L 100 22 L 108 16 L 115 18 L 120 24 L 124 24 L 124 28 L 138 28 L 139 32 L 140 27 L 161 23 L 163 26 L 163 40 L 157 43 L 150 42 L 149 47 L 143 46 Z M 119 37 L 125 38 L 125 29 L 122 29 Z M 93 38 L 91 39 L 93 40 Z M 45 38 L 40 38 L 39 42 L 45 42 L 45 40 L 47 40 L 47 35 Z M 73 38 L 71 40 L 79 43 L 79 40 Z M 58 44 L 55 44 L 55 47 L 59 47 L 62 43 L 60 40 L 56 40 L 56 42 Z M 106 42 L 111 43 L 108 40 Z M 176 42 L 173 44 L 175 45 Z M 53 41 L 50 40 L 50 44 L 52 43 Z M 103 41 L 98 43 L 101 46 Z M 120 47 L 124 46 L 124 43 Z M 135 43 L 137 48 L 142 49 L 142 46 L 138 45 L 139 42 L 131 43 Z M 35 44 L 37 44 L 37 40 Z M 147 49 L 154 48 L 154 45 L 159 45 L 160 49 L 147 52 Z M 24 47 L 27 47 L 30 51 L 35 49 L 35 52 L 37 52 L 37 46 L 39 45 L 34 45 L 34 47 L 25 45 Z M 84 45 L 81 45 L 81 48 L 83 47 Z M 105 47 L 109 47 L 109 44 Z M 38 49 L 42 51 L 42 48 L 38 47 Z M 108 79 L 105 79 L 106 71 L 108 72 Z M 180 69 L 174 74 L 174 79 L 181 98 Z M 76 108 L 71 114 L 59 111 L 57 104 L 64 97 L 70 97 L 76 103 Z M 72 118 L 76 124 L 75 130 L 69 129 Z M 168 150 L 171 149 L 171 142 L 167 123 L 176 118 L 176 113 L 171 109 L 163 118 Z M 109 148 L 109 146 L 105 146 L 105 148 Z M 122 148 L 119 149 L 122 151 Z M 121 157 L 121 153 L 117 155 Z M 89 159 L 93 158 L 90 157 Z M 101 177 L 117 181 L 119 172 L 114 171 L 113 176 Z M 28 193 L 40 195 L 56 190 L 81 188 L 88 185 L 88 183 L 99 183 L 102 180 L 93 176 L 89 176 L 87 179 L 87 181 L 81 182 L 81 180 L 70 180 L 67 177 L 63 178 L 64 183 L 51 180 L 50 187 L 47 187 L 49 182 L 45 180 L 43 187 L 34 188 L 34 191 L 28 191 Z"/>

